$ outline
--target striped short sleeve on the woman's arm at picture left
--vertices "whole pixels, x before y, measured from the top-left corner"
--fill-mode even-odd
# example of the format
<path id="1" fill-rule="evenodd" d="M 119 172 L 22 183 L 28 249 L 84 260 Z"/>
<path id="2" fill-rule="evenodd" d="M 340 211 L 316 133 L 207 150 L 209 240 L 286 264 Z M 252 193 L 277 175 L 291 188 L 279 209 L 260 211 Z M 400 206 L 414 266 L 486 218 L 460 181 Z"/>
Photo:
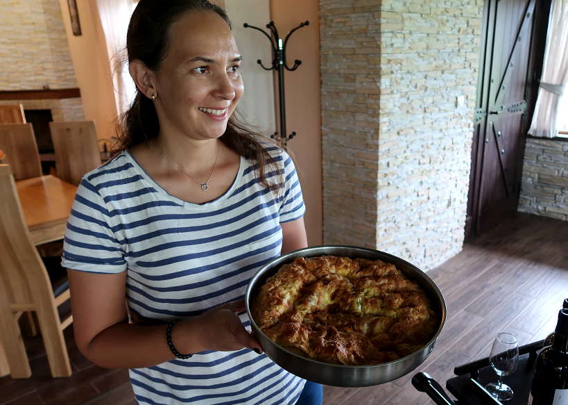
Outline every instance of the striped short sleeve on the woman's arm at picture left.
<path id="1" fill-rule="evenodd" d="M 119 273 L 127 267 L 105 201 L 86 178 L 77 189 L 67 221 L 61 265 L 95 273 Z"/>

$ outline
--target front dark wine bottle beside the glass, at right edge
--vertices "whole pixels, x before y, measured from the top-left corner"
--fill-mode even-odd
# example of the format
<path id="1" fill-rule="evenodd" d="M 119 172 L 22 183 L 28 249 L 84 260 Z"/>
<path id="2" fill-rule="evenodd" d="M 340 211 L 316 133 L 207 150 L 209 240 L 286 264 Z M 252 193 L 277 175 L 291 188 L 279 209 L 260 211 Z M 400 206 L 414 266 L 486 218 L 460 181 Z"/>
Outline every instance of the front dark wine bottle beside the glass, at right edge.
<path id="1" fill-rule="evenodd" d="M 568 405 L 568 309 L 558 313 L 552 345 L 537 356 L 531 396 L 533 405 Z"/>

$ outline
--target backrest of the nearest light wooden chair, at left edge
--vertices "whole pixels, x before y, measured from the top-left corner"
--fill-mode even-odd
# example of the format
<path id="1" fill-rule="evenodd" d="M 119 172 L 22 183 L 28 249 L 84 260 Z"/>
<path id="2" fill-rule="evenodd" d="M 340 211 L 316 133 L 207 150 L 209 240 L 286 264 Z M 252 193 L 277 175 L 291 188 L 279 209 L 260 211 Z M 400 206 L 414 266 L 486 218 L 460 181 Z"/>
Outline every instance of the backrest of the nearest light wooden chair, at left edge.
<path id="1" fill-rule="evenodd" d="M 0 165 L 0 279 L 12 306 L 51 293 L 45 266 L 30 240 L 10 165 Z"/>

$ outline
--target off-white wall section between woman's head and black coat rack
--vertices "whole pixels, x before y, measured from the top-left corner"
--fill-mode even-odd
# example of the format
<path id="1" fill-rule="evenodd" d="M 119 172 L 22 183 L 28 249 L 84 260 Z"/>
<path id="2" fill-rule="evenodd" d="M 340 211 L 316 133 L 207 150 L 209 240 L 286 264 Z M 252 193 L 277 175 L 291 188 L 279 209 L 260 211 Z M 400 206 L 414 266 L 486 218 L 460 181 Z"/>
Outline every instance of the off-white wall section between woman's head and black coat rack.
<path id="1" fill-rule="evenodd" d="M 260 67 L 270 65 L 272 54 L 268 38 L 261 32 L 244 28 L 243 24 L 266 30 L 270 22 L 270 3 L 266 0 L 225 0 L 225 10 L 233 25 L 233 35 L 243 56 L 241 74 L 245 93 L 239 102 L 239 113 L 249 124 L 258 126 L 269 136 L 275 131 L 273 75 Z"/>

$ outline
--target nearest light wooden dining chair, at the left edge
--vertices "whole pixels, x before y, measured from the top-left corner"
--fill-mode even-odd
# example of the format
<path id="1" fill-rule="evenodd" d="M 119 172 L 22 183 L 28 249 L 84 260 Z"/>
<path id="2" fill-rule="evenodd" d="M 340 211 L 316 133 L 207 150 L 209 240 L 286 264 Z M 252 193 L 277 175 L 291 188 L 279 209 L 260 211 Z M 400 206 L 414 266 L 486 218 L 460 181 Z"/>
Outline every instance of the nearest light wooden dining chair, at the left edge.
<path id="1" fill-rule="evenodd" d="M 0 342 L 12 378 L 27 378 L 31 369 L 21 338 L 19 317 L 35 311 L 53 377 L 69 377 L 71 365 L 63 330 L 73 322 L 60 320 L 58 306 L 69 299 L 64 283 L 53 290 L 49 274 L 28 227 L 9 165 L 0 165 Z"/>

